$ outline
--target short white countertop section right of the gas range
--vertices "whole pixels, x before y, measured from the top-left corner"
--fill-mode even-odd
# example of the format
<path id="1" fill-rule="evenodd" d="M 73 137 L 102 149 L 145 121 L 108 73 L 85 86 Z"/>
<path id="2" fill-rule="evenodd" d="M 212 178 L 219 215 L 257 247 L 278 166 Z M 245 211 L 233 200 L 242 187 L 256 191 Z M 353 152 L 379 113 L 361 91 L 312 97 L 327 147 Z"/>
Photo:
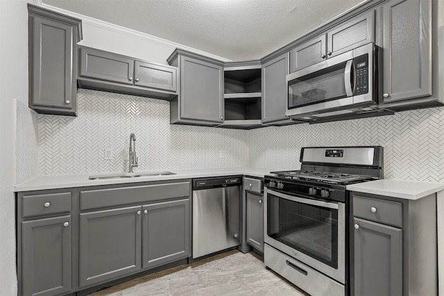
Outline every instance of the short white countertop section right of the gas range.
<path id="1" fill-rule="evenodd" d="M 347 185 L 347 190 L 391 196 L 393 198 L 404 198 L 407 200 L 418 200 L 432 193 L 444 190 L 444 184 L 382 179 Z"/>

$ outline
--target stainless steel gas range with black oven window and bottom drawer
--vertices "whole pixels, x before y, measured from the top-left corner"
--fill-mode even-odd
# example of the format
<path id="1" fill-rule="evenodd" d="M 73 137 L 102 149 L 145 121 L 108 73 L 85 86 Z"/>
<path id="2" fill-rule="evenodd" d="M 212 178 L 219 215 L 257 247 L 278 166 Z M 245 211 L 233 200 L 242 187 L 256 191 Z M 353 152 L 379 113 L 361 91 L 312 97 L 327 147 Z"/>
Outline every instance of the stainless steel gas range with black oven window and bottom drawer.
<path id="1" fill-rule="evenodd" d="M 309 147 L 265 176 L 264 261 L 310 295 L 348 295 L 348 184 L 383 177 L 380 146 Z"/>

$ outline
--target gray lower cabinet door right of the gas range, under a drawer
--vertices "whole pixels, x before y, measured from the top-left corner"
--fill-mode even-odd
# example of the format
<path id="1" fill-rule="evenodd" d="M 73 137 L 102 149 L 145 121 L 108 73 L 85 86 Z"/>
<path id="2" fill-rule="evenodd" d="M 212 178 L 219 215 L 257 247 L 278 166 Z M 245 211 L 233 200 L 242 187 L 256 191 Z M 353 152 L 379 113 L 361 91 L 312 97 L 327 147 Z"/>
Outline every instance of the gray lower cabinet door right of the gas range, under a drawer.
<path id="1" fill-rule="evenodd" d="M 402 295 L 402 229 L 360 218 L 354 224 L 355 295 Z"/>

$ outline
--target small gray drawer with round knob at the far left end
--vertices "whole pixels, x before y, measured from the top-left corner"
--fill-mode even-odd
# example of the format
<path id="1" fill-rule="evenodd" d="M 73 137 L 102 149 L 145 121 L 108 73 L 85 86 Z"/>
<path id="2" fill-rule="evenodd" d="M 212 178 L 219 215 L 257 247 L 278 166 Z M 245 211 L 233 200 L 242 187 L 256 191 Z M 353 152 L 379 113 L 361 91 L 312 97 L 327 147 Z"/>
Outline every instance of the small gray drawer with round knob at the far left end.
<path id="1" fill-rule="evenodd" d="M 40 216 L 71 211 L 71 192 L 24 195 L 22 216 Z"/>

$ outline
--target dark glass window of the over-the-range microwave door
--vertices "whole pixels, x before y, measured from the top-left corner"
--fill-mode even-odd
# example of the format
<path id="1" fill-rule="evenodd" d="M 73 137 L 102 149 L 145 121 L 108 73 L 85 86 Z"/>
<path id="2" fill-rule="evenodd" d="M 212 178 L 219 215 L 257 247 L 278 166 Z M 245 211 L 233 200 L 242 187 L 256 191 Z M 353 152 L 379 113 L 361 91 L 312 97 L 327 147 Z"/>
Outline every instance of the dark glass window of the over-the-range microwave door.
<path id="1" fill-rule="evenodd" d="M 346 98 L 346 63 L 289 81 L 289 109 Z"/>

